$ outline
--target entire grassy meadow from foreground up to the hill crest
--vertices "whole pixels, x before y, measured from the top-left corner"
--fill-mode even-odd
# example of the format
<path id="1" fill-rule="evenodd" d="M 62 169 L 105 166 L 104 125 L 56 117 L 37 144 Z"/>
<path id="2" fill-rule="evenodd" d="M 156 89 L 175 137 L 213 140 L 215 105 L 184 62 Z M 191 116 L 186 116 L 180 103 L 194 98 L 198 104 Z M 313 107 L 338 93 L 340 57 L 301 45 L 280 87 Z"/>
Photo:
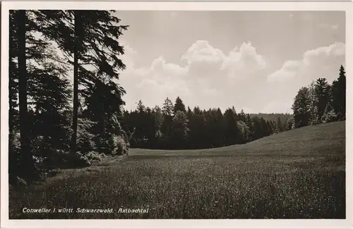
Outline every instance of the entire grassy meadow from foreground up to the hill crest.
<path id="1" fill-rule="evenodd" d="M 9 202 L 10 218 L 345 218 L 345 122 L 241 146 L 131 149 L 126 158 L 11 191 Z M 24 207 L 114 212 L 23 213 Z"/>

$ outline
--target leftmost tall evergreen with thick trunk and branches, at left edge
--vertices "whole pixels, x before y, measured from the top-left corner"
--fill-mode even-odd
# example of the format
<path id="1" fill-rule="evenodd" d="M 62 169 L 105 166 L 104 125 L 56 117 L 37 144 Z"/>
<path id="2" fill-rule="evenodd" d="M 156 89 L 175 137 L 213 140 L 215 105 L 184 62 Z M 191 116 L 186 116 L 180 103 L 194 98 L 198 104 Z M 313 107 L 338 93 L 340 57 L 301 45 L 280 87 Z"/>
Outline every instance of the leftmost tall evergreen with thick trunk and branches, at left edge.
<path id="1" fill-rule="evenodd" d="M 10 11 L 11 182 L 16 176 L 30 182 L 39 175 L 37 172 L 40 172 L 40 169 L 60 166 L 64 163 L 61 160 L 64 156 L 62 153 L 68 149 L 68 123 L 71 115 L 68 103 L 71 99 L 71 89 L 66 79 L 67 66 L 64 60 L 56 55 L 50 42 L 34 35 L 40 29 L 35 19 L 35 11 Z M 22 74 L 19 74 L 19 70 Z M 21 81 L 22 87 L 18 90 L 18 82 Z M 23 103 L 20 107 L 16 101 L 18 93 L 22 94 L 22 99 L 19 100 Z M 19 110 L 22 107 L 22 114 L 26 113 L 26 118 L 18 118 L 17 107 Z M 14 144 L 19 122 L 25 123 L 22 126 L 30 129 L 25 130 L 27 132 L 23 137 L 28 146 L 20 147 L 25 156 L 14 152 L 18 150 Z"/>

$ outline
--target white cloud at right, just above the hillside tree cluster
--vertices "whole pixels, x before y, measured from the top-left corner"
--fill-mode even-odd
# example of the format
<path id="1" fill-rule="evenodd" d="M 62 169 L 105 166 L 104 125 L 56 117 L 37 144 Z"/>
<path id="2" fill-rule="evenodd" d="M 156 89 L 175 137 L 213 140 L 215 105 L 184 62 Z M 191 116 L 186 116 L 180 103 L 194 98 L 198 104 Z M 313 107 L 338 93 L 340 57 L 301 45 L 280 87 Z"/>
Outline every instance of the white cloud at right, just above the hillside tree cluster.
<path id="1" fill-rule="evenodd" d="M 268 97 L 280 98 L 281 102 L 267 104 L 263 112 L 290 109 L 286 101 L 293 101 L 299 88 L 309 85 L 313 80 L 326 78 L 332 82 L 338 77 L 341 65 L 345 65 L 345 44 L 334 43 L 304 52 L 296 61 L 285 61 L 282 68 L 267 77 Z M 287 104 L 287 105 L 285 105 Z M 292 102 L 290 103 L 292 104 Z"/>

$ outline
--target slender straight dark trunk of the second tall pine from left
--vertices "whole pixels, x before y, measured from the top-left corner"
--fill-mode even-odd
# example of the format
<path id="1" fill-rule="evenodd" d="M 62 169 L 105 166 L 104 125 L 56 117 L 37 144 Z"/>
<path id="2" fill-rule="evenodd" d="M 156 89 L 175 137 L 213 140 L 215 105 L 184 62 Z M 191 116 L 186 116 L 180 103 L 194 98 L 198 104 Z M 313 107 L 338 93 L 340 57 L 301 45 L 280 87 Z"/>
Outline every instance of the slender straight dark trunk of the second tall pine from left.
<path id="1" fill-rule="evenodd" d="M 75 20 L 75 44 L 73 51 L 73 116 L 72 116 L 72 136 L 71 136 L 71 153 L 76 153 L 76 140 L 77 140 L 77 120 L 78 120 L 78 54 L 80 45 L 80 41 L 78 39 L 78 26 L 79 25 L 79 17 L 78 12 L 74 13 Z"/>

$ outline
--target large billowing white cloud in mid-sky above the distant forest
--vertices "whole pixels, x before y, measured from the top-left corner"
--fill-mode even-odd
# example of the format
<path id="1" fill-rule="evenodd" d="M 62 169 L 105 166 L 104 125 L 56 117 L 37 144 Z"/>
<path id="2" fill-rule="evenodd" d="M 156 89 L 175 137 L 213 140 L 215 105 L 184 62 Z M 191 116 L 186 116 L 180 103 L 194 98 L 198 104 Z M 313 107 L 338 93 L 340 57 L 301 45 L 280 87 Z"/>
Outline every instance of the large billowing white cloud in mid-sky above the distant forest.
<path id="1" fill-rule="evenodd" d="M 257 70 L 265 68 L 263 57 L 257 54 L 251 43 L 241 44 L 225 55 L 207 41 L 196 41 L 181 56 L 181 63 L 168 63 L 160 56 L 150 66 L 135 68 L 133 56 L 136 51 L 126 47 L 126 70 L 121 73 L 119 83 L 126 89 L 124 100 L 127 109 L 135 109 L 136 101 L 148 106 L 162 104 L 166 97 L 180 96 L 186 106 L 220 107 L 225 109 L 244 100 L 235 89 L 234 75 L 250 77 Z M 231 76 L 229 78 L 229 76 Z M 237 82 L 239 87 L 239 82 Z M 227 97 L 230 97 L 227 99 Z"/>

